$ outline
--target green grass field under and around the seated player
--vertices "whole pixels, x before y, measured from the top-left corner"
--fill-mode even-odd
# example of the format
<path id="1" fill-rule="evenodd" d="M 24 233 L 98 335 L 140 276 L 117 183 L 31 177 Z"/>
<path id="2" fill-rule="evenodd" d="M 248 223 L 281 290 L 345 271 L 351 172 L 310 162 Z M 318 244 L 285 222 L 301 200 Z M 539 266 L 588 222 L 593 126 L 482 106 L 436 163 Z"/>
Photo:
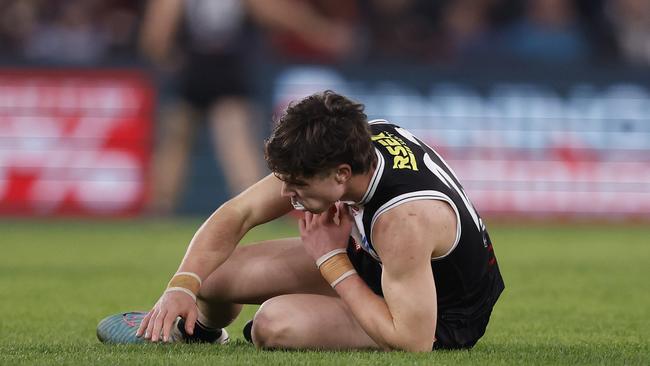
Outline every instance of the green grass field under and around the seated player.
<path id="1" fill-rule="evenodd" d="M 226 346 L 108 346 L 106 315 L 157 299 L 200 221 L 0 222 L 0 365 L 650 364 L 650 226 L 490 226 L 506 291 L 471 351 L 258 351 Z M 246 242 L 295 233 L 267 225 Z"/>

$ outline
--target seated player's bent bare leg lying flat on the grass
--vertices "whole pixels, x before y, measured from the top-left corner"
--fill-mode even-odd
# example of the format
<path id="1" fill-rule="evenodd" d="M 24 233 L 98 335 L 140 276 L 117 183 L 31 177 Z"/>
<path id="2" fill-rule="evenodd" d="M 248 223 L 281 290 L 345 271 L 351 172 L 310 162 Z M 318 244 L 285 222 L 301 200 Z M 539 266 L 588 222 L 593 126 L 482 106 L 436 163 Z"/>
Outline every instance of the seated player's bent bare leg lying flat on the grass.
<path id="1" fill-rule="evenodd" d="M 293 294 L 262 304 L 253 342 L 263 348 L 379 349 L 338 297 Z"/>

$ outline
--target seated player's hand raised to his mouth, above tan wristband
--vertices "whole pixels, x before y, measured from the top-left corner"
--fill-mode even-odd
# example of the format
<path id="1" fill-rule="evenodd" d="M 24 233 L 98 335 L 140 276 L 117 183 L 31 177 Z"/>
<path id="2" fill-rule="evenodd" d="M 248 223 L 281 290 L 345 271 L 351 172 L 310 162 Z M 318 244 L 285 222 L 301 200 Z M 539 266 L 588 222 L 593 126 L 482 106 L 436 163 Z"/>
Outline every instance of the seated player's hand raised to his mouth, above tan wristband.
<path id="1" fill-rule="evenodd" d="M 348 245 L 352 216 L 346 204 L 337 202 L 320 214 L 305 212 L 298 222 L 302 244 L 315 260 Z"/>

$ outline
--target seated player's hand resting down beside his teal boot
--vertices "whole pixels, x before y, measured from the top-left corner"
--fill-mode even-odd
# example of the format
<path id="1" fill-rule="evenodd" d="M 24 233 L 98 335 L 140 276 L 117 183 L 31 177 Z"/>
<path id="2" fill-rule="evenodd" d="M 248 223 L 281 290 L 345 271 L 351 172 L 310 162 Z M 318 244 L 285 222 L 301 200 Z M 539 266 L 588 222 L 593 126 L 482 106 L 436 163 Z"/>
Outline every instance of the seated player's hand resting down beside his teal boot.
<path id="1" fill-rule="evenodd" d="M 183 292 L 165 292 L 153 309 L 142 319 L 135 335 L 144 336 L 151 342 L 169 341 L 169 334 L 177 317 L 185 319 L 185 331 L 194 334 L 194 323 L 198 318 L 196 302 Z"/>

